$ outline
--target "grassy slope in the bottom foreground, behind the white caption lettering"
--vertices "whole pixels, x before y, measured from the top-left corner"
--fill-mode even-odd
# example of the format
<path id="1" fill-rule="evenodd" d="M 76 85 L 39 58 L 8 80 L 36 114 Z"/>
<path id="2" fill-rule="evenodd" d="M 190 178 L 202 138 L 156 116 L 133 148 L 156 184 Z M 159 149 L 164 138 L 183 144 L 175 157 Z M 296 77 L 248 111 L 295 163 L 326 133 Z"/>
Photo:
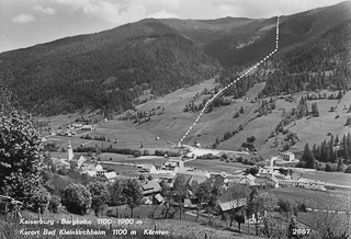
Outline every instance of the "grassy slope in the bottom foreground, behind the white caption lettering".
<path id="1" fill-rule="evenodd" d="M 145 207 L 145 208 L 143 208 Z M 45 213 L 42 216 L 43 220 L 54 220 L 54 225 L 21 225 L 19 224 L 19 220 L 15 219 L 9 219 L 3 216 L 0 216 L 0 236 L 1 239 L 19 239 L 19 238 L 87 238 L 87 236 L 65 236 L 65 235 L 58 235 L 58 231 L 60 229 L 67 229 L 67 230 L 75 230 L 75 229 L 93 229 L 93 230 L 102 230 L 105 231 L 105 236 L 92 236 L 92 238 L 158 238 L 158 239 L 185 239 L 185 238 L 194 238 L 200 239 L 204 238 L 205 234 L 207 234 L 207 238 L 213 239 L 229 239 L 229 238 L 259 238 L 254 236 L 249 236 L 245 234 L 238 234 L 235 231 L 228 231 L 223 228 L 216 228 L 216 227 L 208 227 L 208 225 L 204 225 L 204 223 L 196 223 L 194 221 L 194 217 L 192 219 L 191 216 L 185 215 L 183 220 L 179 219 L 151 219 L 149 218 L 148 213 L 151 212 L 150 206 L 143 206 L 141 209 L 136 208 L 135 215 L 139 216 L 135 218 L 135 223 L 133 225 L 122 225 L 116 221 L 116 218 L 113 219 L 112 226 L 110 225 L 102 225 L 98 223 L 98 219 L 106 218 L 106 217 L 95 217 L 92 212 L 90 212 L 86 216 L 79 216 L 79 215 L 72 215 L 73 219 L 79 220 L 90 220 L 91 225 L 77 225 L 77 226 L 70 226 L 70 225 L 61 225 L 59 221 L 65 218 L 67 220 L 71 219 L 71 216 L 65 212 L 65 209 L 61 209 L 58 214 L 53 213 Z M 125 210 L 126 215 L 129 215 L 129 212 L 127 212 L 127 208 L 118 208 L 118 210 L 123 212 Z M 138 212 L 143 213 L 138 214 Z M 37 215 L 31 212 L 23 212 L 22 213 L 23 218 L 29 219 L 37 219 Z M 191 220 L 188 220 L 191 219 Z M 136 221 L 139 221 L 136 224 Z M 234 227 L 235 228 L 235 227 Z M 56 236 L 53 237 L 37 237 L 37 236 L 22 236 L 20 235 L 21 229 L 24 230 L 39 230 L 41 234 L 44 229 L 54 230 L 57 229 Z M 113 235 L 113 229 L 127 229 L 128 231 L 136 230 L 136 235 L 127 235 L 127 236 L 116 236 Z M 144 235 L 144 229 L 156 229 L 156 230 L 163 230 L 168 231 L 169 236 L 146 236 Z"/>

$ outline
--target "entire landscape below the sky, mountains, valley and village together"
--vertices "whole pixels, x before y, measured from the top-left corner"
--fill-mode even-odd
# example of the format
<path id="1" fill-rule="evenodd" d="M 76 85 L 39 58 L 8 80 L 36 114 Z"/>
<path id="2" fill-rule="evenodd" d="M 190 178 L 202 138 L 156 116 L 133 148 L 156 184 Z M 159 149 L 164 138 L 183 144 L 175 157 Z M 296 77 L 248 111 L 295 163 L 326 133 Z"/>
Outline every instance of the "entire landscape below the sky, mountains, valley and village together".
<path id="1" fill-rule="evenodd" d="M 23 216 L 107 238 L 349 238 L 350 13 L 145 19 L 1 53 L 0 238 Z"/>

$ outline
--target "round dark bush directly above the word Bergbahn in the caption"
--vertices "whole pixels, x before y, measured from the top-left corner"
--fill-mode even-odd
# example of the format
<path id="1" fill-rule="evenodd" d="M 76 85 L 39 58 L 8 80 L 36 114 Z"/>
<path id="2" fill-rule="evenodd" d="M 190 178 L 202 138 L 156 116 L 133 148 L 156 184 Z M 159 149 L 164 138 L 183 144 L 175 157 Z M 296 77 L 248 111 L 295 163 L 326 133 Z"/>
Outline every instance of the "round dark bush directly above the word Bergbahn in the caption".
<path id="1" fill-rule="evenodd" d="M 64 190 L 61 204 L 69 213 L 84 215 L 91 205 L 91 194 L 82 184 L 71 184 Z"/>

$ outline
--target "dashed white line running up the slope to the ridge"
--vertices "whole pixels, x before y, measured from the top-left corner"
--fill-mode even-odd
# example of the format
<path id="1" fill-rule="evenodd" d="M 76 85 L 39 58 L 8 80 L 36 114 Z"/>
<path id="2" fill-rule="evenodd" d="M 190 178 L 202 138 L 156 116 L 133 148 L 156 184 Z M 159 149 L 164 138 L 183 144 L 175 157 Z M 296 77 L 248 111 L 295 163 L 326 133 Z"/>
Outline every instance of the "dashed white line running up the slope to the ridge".
<path id="1" fill-rule="evenodd" d="M 204 107 L 201 110 L 200 114 L 197 115 L 195 122 L 192 124 L 192 126 L 190 126 L 190 128 L 188 129 L 188 132 L 185 133 L 185 135 L 180 139 L 180 141 L 178 143 L 178 146 L 181 146 L 182 141 L 185 139 L 185 137 L 189 135 L 189 133 L 193 129 L 193 127 L 196 125 L 196 123 L 199 122 L 200 117 L 204 114 L 206 107 L 208 106 L 208 104 L 211 104 L 214 99 L 216 99 L 219 94 L 222 94 L 223 91 L 227 90 L 229 87 L 231 87 L 234 83 L 236 83 L 238 80 L 240 80 L 242 77 L 245 77 L 246 75 L 248 75 L 251 70 L 256 69 L 257 67 L 259 67 L 262 62 L 264 62 L 268 58 L 270 58 L 274 53 L 278 52 L 278 46 L 279 46 L 279 16 L 276 16 L 276 27 L 275 27 L 275 49 L 270 53 L 267 57 L 264 57 L 261 61 L 259 61 L 258 64 L 256 64 L 253 67 L 251 67 L 248 71 L 246 71 L 245 73 L 242 73 L 240 77 L 238 77 L 236 80 L 234 80 L 233 82 L 230 82 L 229 84 L 227 84 L 224 89 L 222 89 L 220 91 L 218 91 L 218 93 L 216 93 L 213 98 L 211 98 L 204 105 Z"/>

